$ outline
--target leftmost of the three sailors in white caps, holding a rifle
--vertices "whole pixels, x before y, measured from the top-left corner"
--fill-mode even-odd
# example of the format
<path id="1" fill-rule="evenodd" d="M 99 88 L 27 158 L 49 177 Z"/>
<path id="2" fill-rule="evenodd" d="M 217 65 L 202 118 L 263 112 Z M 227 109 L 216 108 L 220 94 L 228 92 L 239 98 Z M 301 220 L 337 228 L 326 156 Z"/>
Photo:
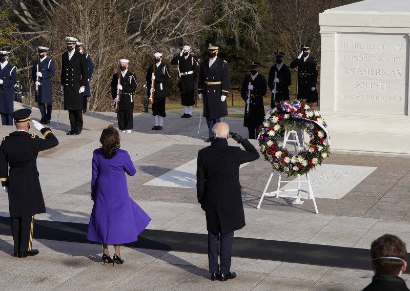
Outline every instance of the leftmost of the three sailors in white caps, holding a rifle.
<path id="1" fill-rule="evenodd" d="M 119 60 L 121 71 L 120 84 L 118 84 L 118 72 L 112 76 L 111 95 L 118 107 L 118 128 L 122 132 L 130 133 L 134 128 L 134 98 L 132 94 L 137 90 L 137 79 L 128 70 L 130 61 L 125 58 Z M 121 94 L 118 97 L 118 90 Z"/>

